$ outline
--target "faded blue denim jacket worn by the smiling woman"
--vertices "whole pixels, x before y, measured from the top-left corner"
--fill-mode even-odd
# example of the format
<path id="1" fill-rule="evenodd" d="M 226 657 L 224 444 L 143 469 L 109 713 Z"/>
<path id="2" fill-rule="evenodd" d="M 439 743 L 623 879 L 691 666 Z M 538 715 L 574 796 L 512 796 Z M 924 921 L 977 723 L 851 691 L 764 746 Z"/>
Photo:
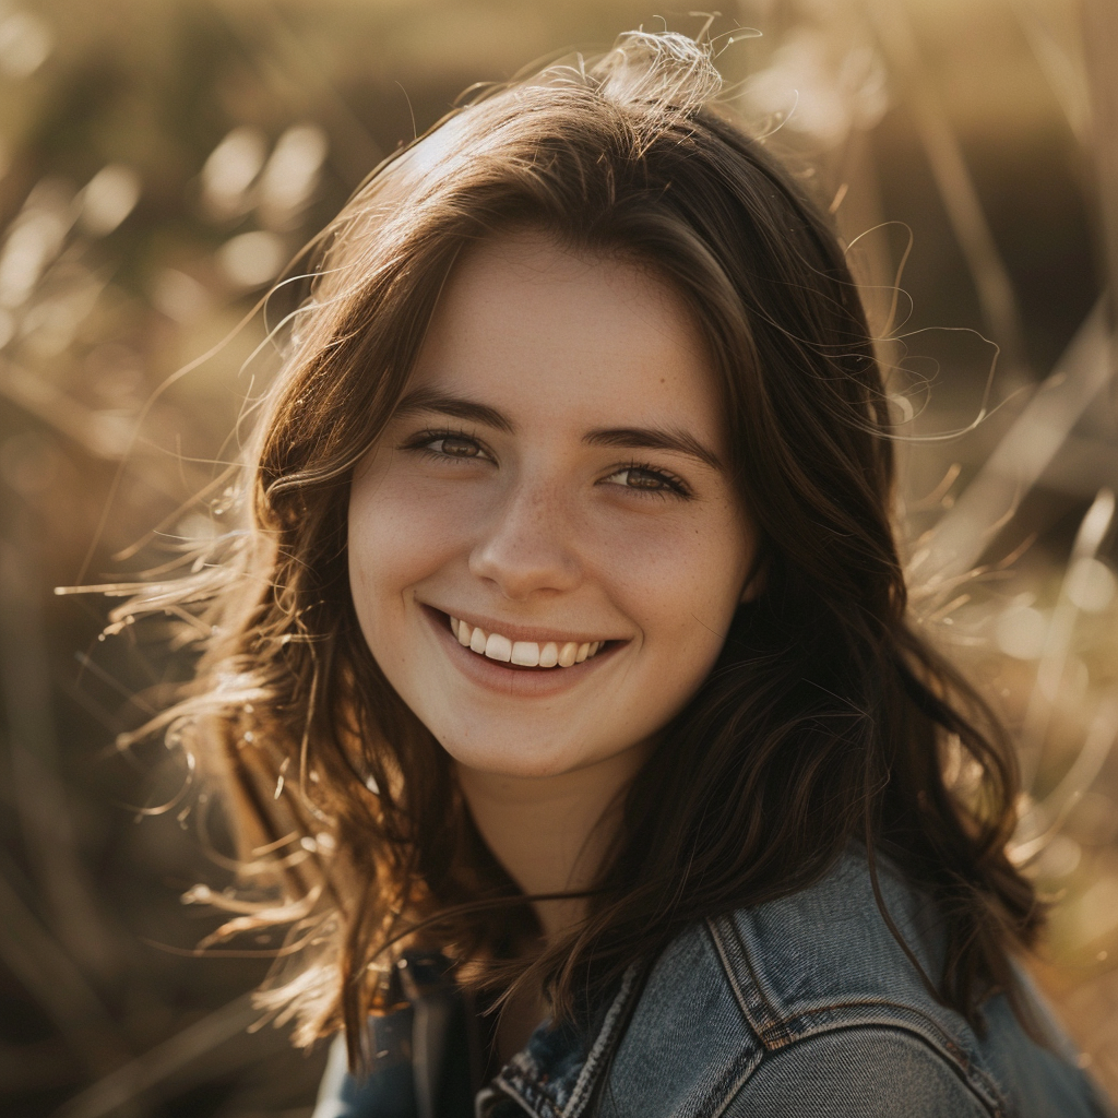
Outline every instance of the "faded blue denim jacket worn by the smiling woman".
<path id="1" fill-rule="evenodd" d="M 931 906 L 884 866 L 889 913 L 929 975 Z M 980 1032 L 940 1005 L 890 932 L 865 858 L 680 935 L 643 984 L 631 969 L 590 1029 L 543 1022 L 487 1083 L 464 1089 L 463 1006 L 432 960 L 410 1005 L 376 1018 L 366 1082 L 337 1042 L 313 1118 L 1079 1118 L 1110 1115 L 1038 995 L 1029 1038 L 1005 998 Z M 455 1057 L 454 1052 L 458 1055 Z M 453 1067 L 457 1060 L 457 1088 Z M 471 1103 L 472 1097 L 472 1103 Z"/>

